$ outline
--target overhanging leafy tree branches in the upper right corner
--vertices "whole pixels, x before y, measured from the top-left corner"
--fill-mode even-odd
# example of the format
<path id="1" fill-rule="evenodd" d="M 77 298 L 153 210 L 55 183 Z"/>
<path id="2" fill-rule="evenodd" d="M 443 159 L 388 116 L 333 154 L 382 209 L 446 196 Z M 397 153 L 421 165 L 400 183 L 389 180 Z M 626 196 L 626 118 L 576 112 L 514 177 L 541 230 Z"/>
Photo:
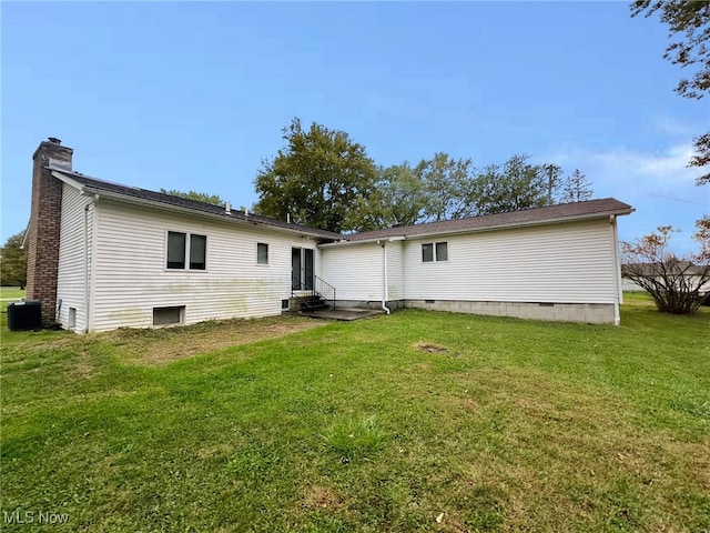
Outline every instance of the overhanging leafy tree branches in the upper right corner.
<path id="1" fill-rule="evenodd" d="M 688 69 L 676 92 L 684 98 L 700 99 L 710 92 L 710 2 L 688 0 L 637 0 L 631 3 L 631 17 L 660 13 L 669 26 L 669 37 L 677 39 L 666 48 L 665 59 Z M 696 154 L 689 167 L 710 165 L 710 131 L 693 139 Z M 697 183 L 710 183 L 710 172 L 701 174 Z"/>

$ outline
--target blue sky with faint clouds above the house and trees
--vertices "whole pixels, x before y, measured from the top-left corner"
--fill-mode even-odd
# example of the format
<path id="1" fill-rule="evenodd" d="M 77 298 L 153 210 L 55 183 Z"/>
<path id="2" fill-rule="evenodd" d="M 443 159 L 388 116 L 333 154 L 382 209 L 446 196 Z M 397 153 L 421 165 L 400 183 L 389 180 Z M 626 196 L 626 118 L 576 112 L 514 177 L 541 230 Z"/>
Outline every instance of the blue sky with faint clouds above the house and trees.
<path id="1" fill-rule="evenodd" d="M 159 190 L 255 200 L 298 117 L 347 131 L 378 164 L 445 151 L 579 168 L 636 213 L 632 239 L 710 212 L 686 168 L 710 98 L 673 88 L 667 28 L 627 2 L 2 2 L 2 227 L 29 219 L 48 137 L 74 169 Z"/>

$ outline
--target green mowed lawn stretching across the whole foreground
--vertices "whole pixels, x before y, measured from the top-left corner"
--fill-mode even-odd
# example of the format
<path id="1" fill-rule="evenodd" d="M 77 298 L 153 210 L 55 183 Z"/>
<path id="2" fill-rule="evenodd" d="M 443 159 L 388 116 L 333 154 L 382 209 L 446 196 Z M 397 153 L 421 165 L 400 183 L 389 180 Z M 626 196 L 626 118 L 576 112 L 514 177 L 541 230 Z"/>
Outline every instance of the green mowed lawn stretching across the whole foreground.
<path id="1" fill-rule="evenodd" d="M 709 310 L 627 300 L 619 328 L 407 310 L 206 353 L 262 322 L 3 330 L 2 531 L 708 531 Z"/>

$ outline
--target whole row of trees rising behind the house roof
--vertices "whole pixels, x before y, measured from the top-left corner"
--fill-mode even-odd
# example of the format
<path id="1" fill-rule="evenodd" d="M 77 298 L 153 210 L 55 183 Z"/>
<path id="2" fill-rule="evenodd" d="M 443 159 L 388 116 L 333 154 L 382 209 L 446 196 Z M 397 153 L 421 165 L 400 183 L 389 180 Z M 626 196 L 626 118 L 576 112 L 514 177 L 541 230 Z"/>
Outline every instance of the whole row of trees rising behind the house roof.
<path id="1" fill-rule="evenodd" d="M 591 198 L 586 177 L 516 154 L 481 168 L 445 152 L 417 164 L 377 165 L 339 130 L 294 119 L 284 148 L 262 161 L 254 211 L 341 232 L 462 219 Z"/>

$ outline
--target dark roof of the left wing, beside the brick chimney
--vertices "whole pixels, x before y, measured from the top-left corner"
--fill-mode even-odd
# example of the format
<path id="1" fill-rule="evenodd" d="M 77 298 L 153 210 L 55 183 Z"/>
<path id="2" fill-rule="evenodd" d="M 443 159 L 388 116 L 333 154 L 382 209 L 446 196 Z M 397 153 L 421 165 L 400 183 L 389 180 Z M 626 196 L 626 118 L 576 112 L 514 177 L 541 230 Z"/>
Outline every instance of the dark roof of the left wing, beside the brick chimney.
<path id="1" fill-rule="evenodd" d="M 195 213 L 204 213 L 221 217 L 225 220 L 242 220 L 244 222 L 251 222 L 255 224 L 271 225 L 274 228 L 282 228 L 285 230 L 296 231 L 300 233 L 308 234 L 312 237 L 321 238 L 324 240 L 338 240 L 342 239 L 339 233 L 332 231 L 318 230 L 315 228 L 308 228 L 302 224 L 291 224 L 288 222 L 272 219 L 270 217 L 262 217 L 260 214 L 248 213 L 244 211 L 232 210 L 231 213 L 226 213 L 224 205 L 213 205 L 211 203 L 199 202 L 196 200 L 187 200 L 186 198 L 174 197 L 172 194 L 163 194 L 162 192 L 148 191 L 138 187 L 121 185 L 118 183 L 111 183 L 110 181 L 102 181 L 95 178 L 90 178 L 79 172 L 69 171 L 60 167 L 49 167 L 54 172 L 59 172 L 64 177 L 73 180 L 74 182 L 87 189 L 87 192 L 110 193 L 125 197 L 126 199 L 142 200 L 148 202 L 161 203 L 164 205 L 171 205 L 175 208 L 186 209 L 194 211 Z"/>

